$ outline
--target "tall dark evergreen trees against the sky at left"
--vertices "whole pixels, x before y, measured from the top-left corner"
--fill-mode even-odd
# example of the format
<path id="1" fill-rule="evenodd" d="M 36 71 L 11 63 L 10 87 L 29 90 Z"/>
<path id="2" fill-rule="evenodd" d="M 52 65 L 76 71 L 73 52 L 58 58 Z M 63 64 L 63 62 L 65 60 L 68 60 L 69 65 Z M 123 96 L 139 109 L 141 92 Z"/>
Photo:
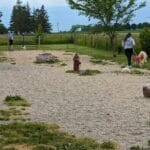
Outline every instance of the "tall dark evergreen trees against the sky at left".
<path id="1" fill-rule="evenodd" d="M 17 0 L 12 9 L 9 28 L 7 29 L 0 20 L 0 32 L 6 33 L 7 30 L 12 30 L 15 34 L 50 33 L 52 25 L 44 5 L 31 11 L 28 3 L 24 5 L 21 0 Z"/>

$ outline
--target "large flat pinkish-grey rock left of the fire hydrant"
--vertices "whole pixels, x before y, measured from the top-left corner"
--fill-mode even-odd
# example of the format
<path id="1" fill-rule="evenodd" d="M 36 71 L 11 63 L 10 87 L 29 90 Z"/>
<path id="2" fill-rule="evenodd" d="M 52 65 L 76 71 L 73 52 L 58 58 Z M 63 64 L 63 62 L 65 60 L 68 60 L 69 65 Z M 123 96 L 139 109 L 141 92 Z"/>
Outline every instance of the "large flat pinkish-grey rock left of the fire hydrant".
<path id="1" fill-rule="evenodd" d="M 55 63 L 58 62 L 56 56 L 52 55 L 51 53 L 43 53 L 36 56 L 37 63 Z"/>

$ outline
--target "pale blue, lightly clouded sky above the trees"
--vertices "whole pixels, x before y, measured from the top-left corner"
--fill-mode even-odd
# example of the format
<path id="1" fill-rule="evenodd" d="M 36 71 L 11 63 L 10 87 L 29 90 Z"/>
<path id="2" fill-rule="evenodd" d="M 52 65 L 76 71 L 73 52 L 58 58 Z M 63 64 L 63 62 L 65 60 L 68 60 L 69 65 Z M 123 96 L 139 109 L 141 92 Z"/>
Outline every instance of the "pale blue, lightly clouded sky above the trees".
<path id="1" fill-rule="evenodd" d="M 52 24 L 53 32 L 57 31 L 69 31 L 72 25 L 81 24 L 88 25 L 96 23 L 97 20 L 90 20 L 85 16 L 79 15 L 77 10 L 69 8 L 66 0 L 21 0 L 23 4 L 27 2 L 30 5 L 31 10 L 33 8 L 39 8 L 41 5 L 45 6 L 48 12 L 49 21 Z M 138 0 L 141 2 L 142 0 Z M 136 16 L 131 23 L 150 22 L 150 0 L 147 1 L 147 6 L 138 10 Z M 0 11 L 3 13 L 2 23 L 5 26 L 9 26 L 10 16 L 13 6 L 16 4 L 16 0 L 1 0 Z"/>

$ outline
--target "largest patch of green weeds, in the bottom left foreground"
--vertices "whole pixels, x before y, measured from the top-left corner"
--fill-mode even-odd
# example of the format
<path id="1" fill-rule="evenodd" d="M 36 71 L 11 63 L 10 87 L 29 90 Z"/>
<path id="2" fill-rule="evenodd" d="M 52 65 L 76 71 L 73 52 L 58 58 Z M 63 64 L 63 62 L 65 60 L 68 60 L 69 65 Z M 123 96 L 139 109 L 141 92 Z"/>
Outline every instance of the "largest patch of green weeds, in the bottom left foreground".
<path id="1" fill-rule="evenodd" d="M 0 145 L 31 145 L 35 150 L 98 150 L 100 144 L 89 138 L 76 138 L 61 132 L 56 125 L 37 122 L 12 122 L 0 125 Z"/>

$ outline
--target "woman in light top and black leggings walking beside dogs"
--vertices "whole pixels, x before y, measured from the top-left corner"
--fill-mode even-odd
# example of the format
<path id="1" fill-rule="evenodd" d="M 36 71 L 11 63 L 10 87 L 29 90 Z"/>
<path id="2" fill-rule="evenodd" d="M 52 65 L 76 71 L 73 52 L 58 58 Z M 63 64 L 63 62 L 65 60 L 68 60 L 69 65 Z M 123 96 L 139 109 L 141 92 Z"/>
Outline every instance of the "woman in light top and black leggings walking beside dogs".
<path id="1" fill-rule="evenodd" d="M 131 59 L 132 59 L 132 55 L 133 55 L 133 51 L 134 51 L 134 47 L 135 47 L 135 41 L 134 41 L 131 33 L 128 33 L 125 36 L 124 40 L 122 41 L 122 47 L 124 48 L 125 55 L 127 57 L 128 68 L 131 69 L 132 68 Z"/>

